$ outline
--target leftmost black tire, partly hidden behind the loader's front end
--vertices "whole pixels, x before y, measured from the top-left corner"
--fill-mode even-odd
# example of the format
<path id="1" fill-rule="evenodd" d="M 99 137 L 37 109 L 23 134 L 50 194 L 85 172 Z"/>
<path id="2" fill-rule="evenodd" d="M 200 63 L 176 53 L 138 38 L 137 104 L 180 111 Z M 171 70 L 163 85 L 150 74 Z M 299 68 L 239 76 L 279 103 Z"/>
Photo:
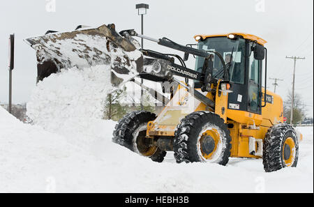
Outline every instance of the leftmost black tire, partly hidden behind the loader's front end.
<path id="1" fill-rule="evenodd" d="M 143 146 L 144 143 L 142 142 L 141 146 L 143 146 L 144 149 L 137 145 L 139 144 L 138 141 L 140 141 L 140 139 L 143 140 L 143 136 L 146 135 L 145 127 L 147 127 L 147 123 L 149 121 L 154 121 L 155 119 L 156 114 L 151 112 L 138 111 L 127 114 L 124 118 L 121 118 L 119 123 L 115 126 L 112 141 L 120 144 L 121 146 L 125 146 L 130 149 L 130 151 L 147 156 L 155 162 L 163 162 L 166 155 L 165 151 L 161 151 L 160 148 L 156 148 L 155 150 L 153 149 L 153 153 L 145 155 L 141 152 L 145 149 L 149 149 L 150 147 L 147 145 Z"/>

